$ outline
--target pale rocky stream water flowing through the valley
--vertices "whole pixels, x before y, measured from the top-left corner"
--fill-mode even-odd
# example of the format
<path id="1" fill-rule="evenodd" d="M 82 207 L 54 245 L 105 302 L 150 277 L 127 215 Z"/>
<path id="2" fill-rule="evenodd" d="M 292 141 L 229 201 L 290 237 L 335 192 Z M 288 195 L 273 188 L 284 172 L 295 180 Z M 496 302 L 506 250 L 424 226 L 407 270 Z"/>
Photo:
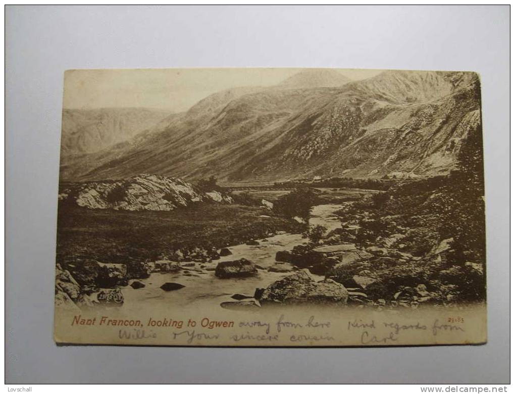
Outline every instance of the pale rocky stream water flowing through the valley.
<path id="1" fill-rule="evenodd" d="M 342 204 L 322 204 L 313 207 L 309 220 L 310 226 L 325 226 L 328 232 L 340 227 L 340 221 L 334 213 L 341 207 Z M 294 246 L 306 243 L 306 239 L 302 238 L 301 234 L 288 233 L 256 241 L 259 242 L 259 245 L 230 246 L 228 248 L 232 252 L 231 255 L 223 256 L 211 263 L 195 263 L 193 267 L 184 267 L 190 275 L 184 275 L 183 270 L 174 273 L 152 273 L 149 278 L 139 280 L 145 287 L 133 289 L 126 286 L 122 288 L 125 301 L 121 307 L 127 311 L 138 311 L 141 310 L 142 305 L 152 310 L 154 308 L 162 309 L 166 304 L 173 304 L 175 307 L 187 307 L 190 310 L 197 307 L 205 310 L 207 304 L 212 304 L 213 308 L 219 308 L 221 302 L 235 301 L 231 298 L 234 294 L 252 297 L 256 288 L 266 287 L 291 274 L 291 272 L 269 272 L 267 270 L 276 264 L 276 253 L 280 250 L 291 250 Z M 250 260 L 260 267 L 258 275 L 251 278 L 233 279 L 215 277 L 214 268 L 218 262 L 242 258 Z M 323 279 L 316 275 L 310 275 L 315 280 Z M 180 283 L 185 287 L 165 292 L 160 286 L 166 282 Z"/>

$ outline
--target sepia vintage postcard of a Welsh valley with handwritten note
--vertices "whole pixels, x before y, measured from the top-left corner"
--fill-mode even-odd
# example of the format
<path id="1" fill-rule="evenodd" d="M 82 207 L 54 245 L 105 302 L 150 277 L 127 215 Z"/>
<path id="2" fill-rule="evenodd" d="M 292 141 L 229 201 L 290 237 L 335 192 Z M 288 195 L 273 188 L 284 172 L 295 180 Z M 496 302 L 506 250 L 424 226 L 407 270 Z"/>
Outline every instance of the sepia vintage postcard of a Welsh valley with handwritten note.
<path id="1" fill-rule="evenodd" d="M 61 344 L 487 340 L 479 76 L 70 70 Z"/>

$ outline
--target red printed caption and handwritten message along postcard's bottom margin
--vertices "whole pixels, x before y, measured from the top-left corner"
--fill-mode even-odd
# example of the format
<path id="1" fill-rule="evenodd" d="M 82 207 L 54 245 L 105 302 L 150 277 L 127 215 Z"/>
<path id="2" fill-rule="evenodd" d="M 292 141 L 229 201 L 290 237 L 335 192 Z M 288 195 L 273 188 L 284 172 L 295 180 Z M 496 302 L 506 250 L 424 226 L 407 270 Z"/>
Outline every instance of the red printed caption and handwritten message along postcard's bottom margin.
<path id="1" fill-rule="evenodd" d="M 117 338 L 124 340 L 164 339 L 173 344 L 187 345 L 258 345 L 258 346 L 331 346 L 342 338 L 353 338 L 352 343 L 364 346 L 397 345 L 408 333 L 438 337 L 442 334 L 465 333 L 465 321 L 449 319 L 397 321 L 395 319 L 352 319 L 336 324 L 315 315 L 291 318 L 285 314 L 267 319 L 218 320 L 210 317 L 178 319 L 148 317 L 120 319 L 109 316 L 75 315 L 71 326 L 114 329 Z"/>

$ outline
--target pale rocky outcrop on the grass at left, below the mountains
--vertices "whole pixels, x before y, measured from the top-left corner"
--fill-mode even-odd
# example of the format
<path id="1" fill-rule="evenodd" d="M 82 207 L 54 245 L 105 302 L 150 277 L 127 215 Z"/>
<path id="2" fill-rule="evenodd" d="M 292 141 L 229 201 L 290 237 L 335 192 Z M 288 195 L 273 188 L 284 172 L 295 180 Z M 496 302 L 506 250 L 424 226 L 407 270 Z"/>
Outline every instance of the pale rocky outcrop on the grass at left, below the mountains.
<path id="1" fill-rule="evenodd" d="M 218 191 L 202 193 L 179 178 L 142 174 L 123 181 L 85 182 L 60 193 L 65 203 L 90 209 L 171 211 L 195 202 L 232 203 Z"/>

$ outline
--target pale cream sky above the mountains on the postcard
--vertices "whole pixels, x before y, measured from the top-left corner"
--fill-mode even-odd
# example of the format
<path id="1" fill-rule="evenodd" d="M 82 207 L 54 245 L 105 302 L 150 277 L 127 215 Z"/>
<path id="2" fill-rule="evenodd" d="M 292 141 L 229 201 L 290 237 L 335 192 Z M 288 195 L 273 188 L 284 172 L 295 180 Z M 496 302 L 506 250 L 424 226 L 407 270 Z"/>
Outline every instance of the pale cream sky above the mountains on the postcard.
<path id="1" fill-rule="evenodd" d="M 186 111 L 210 94 L 235 87 L 272 86 L 301 68 L 147 68 L 134 70 L 68 70 L 63 108 L 157 108 Z M 341 68 L 353 80 L 381 70 Z"/>

